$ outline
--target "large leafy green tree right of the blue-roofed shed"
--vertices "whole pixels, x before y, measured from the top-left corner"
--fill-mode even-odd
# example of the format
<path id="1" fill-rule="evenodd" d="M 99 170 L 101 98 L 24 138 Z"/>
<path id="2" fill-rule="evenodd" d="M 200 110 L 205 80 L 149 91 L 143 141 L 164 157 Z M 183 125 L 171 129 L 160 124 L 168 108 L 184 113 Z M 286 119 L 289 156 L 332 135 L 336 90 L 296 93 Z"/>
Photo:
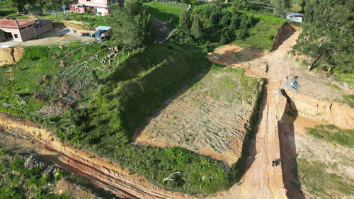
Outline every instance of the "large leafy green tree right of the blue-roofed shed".
<path id="1" fill-rule="evenodd" d="M 123 8 L 112 6 L 108 23 L 114 30 L 113 42 L 130 49 L 152 42 L 152 19 L 138 1 L 127 0 Z"/>

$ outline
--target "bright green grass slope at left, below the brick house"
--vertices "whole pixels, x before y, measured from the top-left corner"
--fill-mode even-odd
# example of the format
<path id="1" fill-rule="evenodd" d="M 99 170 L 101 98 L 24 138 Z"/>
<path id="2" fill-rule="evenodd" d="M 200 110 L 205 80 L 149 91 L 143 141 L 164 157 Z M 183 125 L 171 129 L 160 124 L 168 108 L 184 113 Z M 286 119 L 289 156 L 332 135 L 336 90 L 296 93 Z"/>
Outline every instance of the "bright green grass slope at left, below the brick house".
<path id="1" fill-rule="evenodd" d="M 33 113 L 42 106 L 50 103 L 50 100 L 56 98 L 55 94 L 48 94 L 48 100 L 38 102 L 33 96 L 25 98 L 25 103 L 19 105 L 16 93 L 45 92 L 55 85 L 55 77 L 52 76 L 49 81 L 41 82 L 45 74 L 53 74 L 59 70 L 65 69 L 60 65 L 61 60 L 67 63 L 67 67 L 74 66 L 87 60 L 88 57 L 96 55 L 98 51 L 101 55 L 108 54 L 108 50 L 101 47 L 100 44 L 93 43 L 91 46 L 82 44 L 81 42 L 72 42 L 66 46 L 62 46 L 62 50 L 58 46 L 32 46 L 23 47 L 25 54 L 19 62 L 13 65 L 4 65 L 0 67 L 0 107 L 4 103 L 11 106 L 13 110 L 21 110 Z M 89 67 L 100 67 L 101 62 L 98 59 L 93 60 Z M 108 72 L 103 70 L 98 72 L 98 76 L 103 78 Z M 63 79 L 60 79 L 63 80 Z M 91 88 L 88 92 L 92 93 Z M 84 100 L 83 100 L 84 101 Z"/>

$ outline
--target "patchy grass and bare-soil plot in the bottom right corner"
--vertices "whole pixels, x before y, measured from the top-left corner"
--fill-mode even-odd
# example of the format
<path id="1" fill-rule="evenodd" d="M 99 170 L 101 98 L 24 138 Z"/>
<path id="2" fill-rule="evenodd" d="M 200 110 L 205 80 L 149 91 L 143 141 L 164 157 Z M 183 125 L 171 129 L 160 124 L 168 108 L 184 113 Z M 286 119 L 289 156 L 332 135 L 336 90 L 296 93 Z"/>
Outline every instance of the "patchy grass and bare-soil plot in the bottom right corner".
<path id="1" fill-rule="evenodd" d="M 353 143 L 353 137 L 348 137 L 348 133 L 353 135 L 353 130 L 341 132 L 333 125 L 316 125 L 307 129 L 314 122 L 316 120 L 306 118 L 295 121 L 297 173 L 301 190 L 309 198 L 350 198 L 354 194 L 354 152 L 353 144 L 347 143 Z M 338 142 L 344 137 L 346 142 Z"/>

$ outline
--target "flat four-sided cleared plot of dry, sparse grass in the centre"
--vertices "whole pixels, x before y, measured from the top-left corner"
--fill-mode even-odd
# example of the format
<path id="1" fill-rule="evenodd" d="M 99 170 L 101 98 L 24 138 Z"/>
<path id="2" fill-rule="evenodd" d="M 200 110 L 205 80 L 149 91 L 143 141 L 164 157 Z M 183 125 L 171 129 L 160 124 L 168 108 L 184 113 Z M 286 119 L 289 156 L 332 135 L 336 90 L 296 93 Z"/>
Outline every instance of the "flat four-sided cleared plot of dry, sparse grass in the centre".
<path id="1" fill-rule="evenodd" d="M 135 144 L 182 147 L 230 166 L 241 153 L 257 89 L 257 79 L 244 76 L 244 69 L 213 67 L 156 110 Z"/>

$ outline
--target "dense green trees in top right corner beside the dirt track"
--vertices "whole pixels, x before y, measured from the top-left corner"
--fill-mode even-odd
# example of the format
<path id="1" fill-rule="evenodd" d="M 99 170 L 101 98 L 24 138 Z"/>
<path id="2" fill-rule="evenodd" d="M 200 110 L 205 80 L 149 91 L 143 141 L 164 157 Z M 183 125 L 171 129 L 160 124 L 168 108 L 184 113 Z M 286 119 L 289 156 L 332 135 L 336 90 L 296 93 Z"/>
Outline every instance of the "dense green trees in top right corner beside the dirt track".
<path id="1" fill-rule="evenodd" d="M 353 73 L 354 2 L 307 0 L 303 32 L 294 50 L 311 57 L 308 69 Z"/>

